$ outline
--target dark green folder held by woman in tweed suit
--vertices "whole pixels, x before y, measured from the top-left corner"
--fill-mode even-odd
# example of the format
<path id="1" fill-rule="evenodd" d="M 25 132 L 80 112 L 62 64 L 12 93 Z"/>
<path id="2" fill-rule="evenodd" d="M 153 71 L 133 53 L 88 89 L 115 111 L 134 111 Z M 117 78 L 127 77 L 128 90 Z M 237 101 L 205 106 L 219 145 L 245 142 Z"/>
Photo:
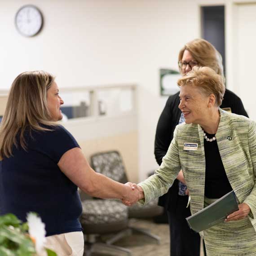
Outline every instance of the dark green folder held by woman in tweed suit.
<path id="1" fill-rule="evenodd" d="M 186 218 L 190 229 L 200 232 L 218 223 L 224 222 L 225 218 L 232 212 L 238 210 L 236 196 L 232 190 L 214 203 L 203 208 L 201 211 Z"/>

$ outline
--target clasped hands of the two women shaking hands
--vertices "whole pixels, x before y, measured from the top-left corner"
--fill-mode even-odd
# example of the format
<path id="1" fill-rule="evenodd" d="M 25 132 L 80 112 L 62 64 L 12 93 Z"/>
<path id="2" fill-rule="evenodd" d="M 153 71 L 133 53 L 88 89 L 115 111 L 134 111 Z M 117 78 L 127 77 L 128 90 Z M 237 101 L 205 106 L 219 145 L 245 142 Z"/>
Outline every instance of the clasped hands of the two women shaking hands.
<path id="1" fill-rule="evenodd" d="M 122 198 L 122 203 L 126 206 L 131 206 L 139 200 L 144 199 L 144 192 L 140 186 L 135 183 L 127 182 L 125 185 L 125 196 Z"/>

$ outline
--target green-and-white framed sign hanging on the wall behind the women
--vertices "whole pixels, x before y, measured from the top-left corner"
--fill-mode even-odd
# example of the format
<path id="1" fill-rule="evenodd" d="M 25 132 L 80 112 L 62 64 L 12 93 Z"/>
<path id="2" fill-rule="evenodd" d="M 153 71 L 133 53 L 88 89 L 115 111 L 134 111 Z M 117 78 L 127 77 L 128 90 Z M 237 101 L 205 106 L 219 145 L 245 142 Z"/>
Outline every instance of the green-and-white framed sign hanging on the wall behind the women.
<path id="1" fill-rule="evenodd" d="M 162 96 L 169 96 L 177 93 L 178 88 L 177 81 L 181 78 L 181 74 L 172 69 L 160 69 L 160 93 Z"/>

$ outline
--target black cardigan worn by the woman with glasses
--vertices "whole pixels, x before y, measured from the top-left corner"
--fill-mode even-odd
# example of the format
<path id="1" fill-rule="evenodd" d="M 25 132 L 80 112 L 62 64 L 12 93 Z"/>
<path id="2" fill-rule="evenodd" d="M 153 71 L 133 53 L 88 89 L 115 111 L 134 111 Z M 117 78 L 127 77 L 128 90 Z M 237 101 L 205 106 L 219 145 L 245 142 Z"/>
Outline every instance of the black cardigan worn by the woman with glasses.
<path id="1" fill-rule="evenodd" d="M 154 141 L 154 155 L 159 165 L 162 163 L 162 159 L 167 153 L 173 138 L 173 132 L 176 125 L 179 123 L 181 116 L 181 110 L 178 108 L 180 103 L 179 94 L 180 92 L 168 98 L 157 124 Z M 221 108 L 227 107 L 231 108 L 232 113 L 248 117 L 241 99 L 228 89 L 225 91 L 224 99 L 221 104 Z M 159 205 L 170 209 L 171 207 L 169 206 L 176 205 L 177 197 L 178 180 L 175 180 L 168 193 L 159 198 Z"/>

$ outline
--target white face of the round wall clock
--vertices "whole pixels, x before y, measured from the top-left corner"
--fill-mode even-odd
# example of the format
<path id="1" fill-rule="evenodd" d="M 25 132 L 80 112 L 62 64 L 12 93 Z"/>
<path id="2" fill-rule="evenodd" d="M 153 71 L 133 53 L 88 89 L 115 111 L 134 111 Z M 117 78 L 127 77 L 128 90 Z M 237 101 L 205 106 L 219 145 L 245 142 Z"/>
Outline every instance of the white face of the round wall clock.
<path id="1" fill-rule="evenodd" d="M 25 5 L 15 17 L 18 31 L 25 36 L 36 35 L 43 26 L 43 15 L 34 5 Z"/>

